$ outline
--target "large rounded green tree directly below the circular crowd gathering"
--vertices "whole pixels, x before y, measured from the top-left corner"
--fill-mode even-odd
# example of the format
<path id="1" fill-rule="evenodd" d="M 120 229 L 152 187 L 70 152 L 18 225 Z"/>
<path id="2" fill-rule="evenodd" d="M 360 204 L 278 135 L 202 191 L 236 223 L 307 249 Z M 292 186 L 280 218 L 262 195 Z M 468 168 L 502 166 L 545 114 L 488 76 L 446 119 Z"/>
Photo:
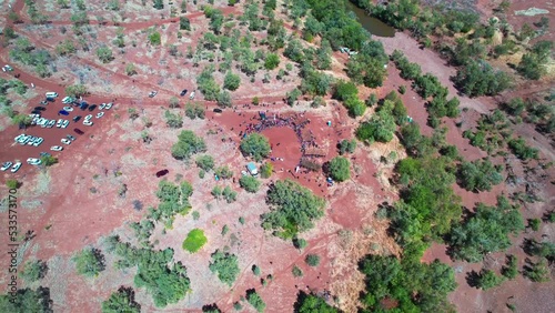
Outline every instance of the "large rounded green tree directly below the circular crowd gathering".
<path id="1" fill-rule="evenodd" d="M 313 221 L 324 215 L 324 200 L 291 180 L 272 184 L 266 202 L 272 211 L 262 214 L 262 226 L 264 230 L 274 230 L 274 234 L 284 239 L 312 229 Z"/>

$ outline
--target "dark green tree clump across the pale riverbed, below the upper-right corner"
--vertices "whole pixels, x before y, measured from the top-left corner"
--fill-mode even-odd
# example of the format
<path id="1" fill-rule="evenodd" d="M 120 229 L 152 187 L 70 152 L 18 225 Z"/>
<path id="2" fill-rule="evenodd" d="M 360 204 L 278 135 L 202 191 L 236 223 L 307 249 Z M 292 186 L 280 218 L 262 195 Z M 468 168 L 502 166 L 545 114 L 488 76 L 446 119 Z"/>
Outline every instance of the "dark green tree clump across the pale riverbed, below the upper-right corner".
<path id="1" fill-rule="evenodd" d="M 460 68 L 454 82 L 461 92 L 470 97 L 495 95 L 512 84 L 507 73 L 494 70 L 483 60 L 471 60 Z"/>

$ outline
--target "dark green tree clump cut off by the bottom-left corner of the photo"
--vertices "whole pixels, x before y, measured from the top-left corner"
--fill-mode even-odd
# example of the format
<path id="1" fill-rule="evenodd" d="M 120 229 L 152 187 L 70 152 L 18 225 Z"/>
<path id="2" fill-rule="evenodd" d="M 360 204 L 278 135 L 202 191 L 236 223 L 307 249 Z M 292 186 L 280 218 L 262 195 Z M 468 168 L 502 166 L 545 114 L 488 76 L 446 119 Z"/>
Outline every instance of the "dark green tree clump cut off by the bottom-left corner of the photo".
<path id="1" fill-rule="evenodd" d="M 10 313 L 52 313 L 53 302 L 50 299 L 50 289 L 39 286 L 36 291 L 20 289 L 11 294 L 0 295 L 0 312 Z"/>

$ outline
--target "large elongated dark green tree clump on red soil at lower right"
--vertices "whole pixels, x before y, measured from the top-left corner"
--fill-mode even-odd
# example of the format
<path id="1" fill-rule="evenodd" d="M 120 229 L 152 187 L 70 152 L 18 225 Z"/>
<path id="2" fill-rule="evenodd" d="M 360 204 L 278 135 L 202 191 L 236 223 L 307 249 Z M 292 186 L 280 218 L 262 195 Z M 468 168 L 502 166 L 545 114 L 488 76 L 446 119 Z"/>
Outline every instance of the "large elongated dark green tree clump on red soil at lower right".
<path id="1" fill-rule="evenodd" d="M 478 203 L 475 213 L 461 225 L 455 225 L 448 242 L 455 259 L 480 262 L 488 252 L 504 251 L 511 246 L 509 234 L 524 230 L 517 205 L 504 196 L 497 198 L 497 206 Z"/>

